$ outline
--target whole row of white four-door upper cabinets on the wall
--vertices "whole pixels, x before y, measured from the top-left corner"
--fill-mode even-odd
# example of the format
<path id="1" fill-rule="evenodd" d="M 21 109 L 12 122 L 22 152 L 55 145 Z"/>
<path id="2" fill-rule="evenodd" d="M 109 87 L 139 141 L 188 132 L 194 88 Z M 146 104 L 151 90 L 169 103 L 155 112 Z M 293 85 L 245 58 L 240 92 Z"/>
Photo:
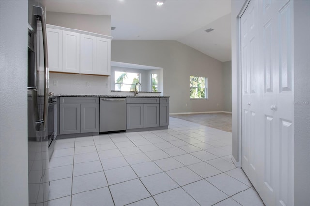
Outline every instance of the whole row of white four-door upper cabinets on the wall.
<path id="1" fill-rule="evenodd" d="M 47 25 L 51 72 L 111 74 L 110 36 Z"/>

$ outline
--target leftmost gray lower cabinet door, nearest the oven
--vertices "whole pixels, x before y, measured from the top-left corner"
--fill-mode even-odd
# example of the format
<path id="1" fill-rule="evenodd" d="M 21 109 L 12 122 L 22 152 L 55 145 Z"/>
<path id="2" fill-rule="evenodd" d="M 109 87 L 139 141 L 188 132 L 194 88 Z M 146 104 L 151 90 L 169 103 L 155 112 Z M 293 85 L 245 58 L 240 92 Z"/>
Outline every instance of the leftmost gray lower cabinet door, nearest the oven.
<path id="1" fill-rule="evenodd" d="M 59 132 L 60 134 L 75 134 L 81 132 L 81 105 L 60 104 Z"/>

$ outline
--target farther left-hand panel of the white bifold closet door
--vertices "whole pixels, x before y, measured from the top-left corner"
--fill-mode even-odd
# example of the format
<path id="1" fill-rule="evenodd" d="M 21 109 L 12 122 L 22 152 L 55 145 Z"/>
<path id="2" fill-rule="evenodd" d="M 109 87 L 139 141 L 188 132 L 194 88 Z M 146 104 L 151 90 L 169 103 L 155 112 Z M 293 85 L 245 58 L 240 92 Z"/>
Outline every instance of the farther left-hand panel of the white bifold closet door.
<path id="1" fill-rule="evenodd" d="M 259 102 L 259 38 L 258 1 L 251 1 L 241 18 L 241 67 L 242 67 L 242 168 L 257 186 L 257 161 L 259 154 L 260 123 Z"/>

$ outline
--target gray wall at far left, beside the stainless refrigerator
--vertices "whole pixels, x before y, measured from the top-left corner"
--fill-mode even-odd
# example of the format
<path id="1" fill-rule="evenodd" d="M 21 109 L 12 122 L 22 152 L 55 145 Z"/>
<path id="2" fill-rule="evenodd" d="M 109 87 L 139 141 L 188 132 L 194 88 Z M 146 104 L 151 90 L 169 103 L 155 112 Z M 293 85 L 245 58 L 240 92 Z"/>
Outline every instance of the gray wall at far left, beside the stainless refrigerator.
<path id="1" fill-rule="evenodd" d="M 2 206 L 28 205 L 28 1 L 0 1 L 0 192 Z"/>

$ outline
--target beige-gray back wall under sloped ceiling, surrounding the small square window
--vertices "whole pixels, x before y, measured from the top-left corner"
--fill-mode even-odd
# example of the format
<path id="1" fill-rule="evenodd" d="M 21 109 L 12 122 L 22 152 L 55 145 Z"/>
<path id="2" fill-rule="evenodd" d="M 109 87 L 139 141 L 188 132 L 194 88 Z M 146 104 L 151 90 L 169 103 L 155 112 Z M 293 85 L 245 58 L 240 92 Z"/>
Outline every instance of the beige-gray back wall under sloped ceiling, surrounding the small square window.
<path id="1" fill-rule="evenodd" d="M 112 61 L 164 68 L 171 113 L 223 110 L 222 62 L 177 41 L 112 40 L 111 49 Z M 208 78 L 208 100 L 189 99 L 190 75 Z"/>

